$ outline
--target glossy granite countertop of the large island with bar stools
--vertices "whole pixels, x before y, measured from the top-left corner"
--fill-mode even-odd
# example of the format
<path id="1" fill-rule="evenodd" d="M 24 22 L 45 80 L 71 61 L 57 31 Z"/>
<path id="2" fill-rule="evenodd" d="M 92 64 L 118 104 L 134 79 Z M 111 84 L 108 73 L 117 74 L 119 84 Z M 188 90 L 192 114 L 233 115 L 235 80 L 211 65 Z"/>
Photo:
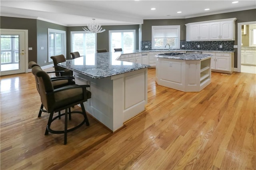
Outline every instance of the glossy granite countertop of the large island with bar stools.
<path id="1" fill-rule="evenodd" d="M 101 79 L 150 67 L 150 65 L 116 60 L 120 53 L 93 53 L 84 57 L 66 60 L 58 65 L 94 79 Z"/>

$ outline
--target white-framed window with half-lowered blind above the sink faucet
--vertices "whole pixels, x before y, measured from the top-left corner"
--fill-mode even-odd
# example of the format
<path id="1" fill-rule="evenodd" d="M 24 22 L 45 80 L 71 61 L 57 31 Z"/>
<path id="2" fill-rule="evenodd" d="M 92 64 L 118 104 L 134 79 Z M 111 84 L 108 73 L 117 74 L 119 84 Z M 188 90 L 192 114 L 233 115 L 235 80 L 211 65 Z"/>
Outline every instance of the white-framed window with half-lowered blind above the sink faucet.
<path id="1" fill-rule="evenodd" d="M 180 49 L 180 26 L 152 26 L 152 49 L 168 49 L 166 44 Z"/>

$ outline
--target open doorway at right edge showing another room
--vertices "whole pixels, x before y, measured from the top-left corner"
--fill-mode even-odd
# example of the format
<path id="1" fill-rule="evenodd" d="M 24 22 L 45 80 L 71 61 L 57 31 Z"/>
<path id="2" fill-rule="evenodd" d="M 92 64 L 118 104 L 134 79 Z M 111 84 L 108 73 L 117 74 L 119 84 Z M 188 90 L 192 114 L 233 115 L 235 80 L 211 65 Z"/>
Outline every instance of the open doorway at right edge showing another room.
<path id="1" fill-rule="evenodd" d="M 256 21 L 238 23 L 237 71 L 256 74 Z"/>

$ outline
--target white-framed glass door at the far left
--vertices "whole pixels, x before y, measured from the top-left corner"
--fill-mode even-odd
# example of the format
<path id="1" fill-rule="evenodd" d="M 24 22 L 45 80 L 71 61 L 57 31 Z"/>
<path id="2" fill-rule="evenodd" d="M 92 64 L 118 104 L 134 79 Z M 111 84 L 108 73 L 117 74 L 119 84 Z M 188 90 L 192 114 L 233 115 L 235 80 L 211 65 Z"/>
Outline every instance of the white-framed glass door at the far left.
<path id="1" fill-rule="evenodd" d="M 28 72 L 28 30 L 1 29 L 1 75 Z"/>

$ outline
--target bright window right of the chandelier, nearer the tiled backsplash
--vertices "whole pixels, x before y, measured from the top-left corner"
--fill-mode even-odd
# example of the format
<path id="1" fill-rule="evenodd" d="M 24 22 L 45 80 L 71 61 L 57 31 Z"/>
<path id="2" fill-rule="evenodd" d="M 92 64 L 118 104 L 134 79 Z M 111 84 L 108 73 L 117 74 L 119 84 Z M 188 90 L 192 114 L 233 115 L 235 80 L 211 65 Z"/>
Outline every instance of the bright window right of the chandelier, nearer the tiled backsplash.
<path id="1" fill-rule="evenodd" d="M 122 48 L 123 51 L 135 50 L 135 30 L 112 30 L 109 31 L 109 50 Z"/>

